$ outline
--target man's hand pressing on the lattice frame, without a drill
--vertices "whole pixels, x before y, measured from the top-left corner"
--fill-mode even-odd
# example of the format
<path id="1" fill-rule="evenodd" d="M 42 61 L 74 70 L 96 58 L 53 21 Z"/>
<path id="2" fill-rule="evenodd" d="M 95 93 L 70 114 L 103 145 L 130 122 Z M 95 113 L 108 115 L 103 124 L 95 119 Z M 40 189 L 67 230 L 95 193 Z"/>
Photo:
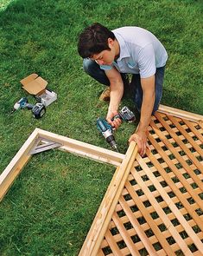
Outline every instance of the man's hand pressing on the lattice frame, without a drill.
<path id="1" fill-rule="evenodd" d="M 130 136 L 129 142 L 130 141 L 136 141 L 137 147 L 138 147 L 138 153 L 141 156 L 146 154 L 146 150 L 147 150 L 147 148 L 149 148 L 149 144 L 148 144 L 147 135 L 145 132 L 137 131 L 136 134 Z"/>

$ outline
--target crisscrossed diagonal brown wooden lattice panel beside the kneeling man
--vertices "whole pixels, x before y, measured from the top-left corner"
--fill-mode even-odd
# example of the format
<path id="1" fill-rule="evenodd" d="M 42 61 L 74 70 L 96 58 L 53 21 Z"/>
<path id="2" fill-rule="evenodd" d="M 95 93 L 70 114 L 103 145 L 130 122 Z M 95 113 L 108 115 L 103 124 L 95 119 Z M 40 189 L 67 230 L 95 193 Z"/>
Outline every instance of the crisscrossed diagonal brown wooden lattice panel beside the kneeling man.
<path id="1" fill-rule="evenodd" d="M 203 255 L 201 122 L 157 113 L 98 255 Z"/>

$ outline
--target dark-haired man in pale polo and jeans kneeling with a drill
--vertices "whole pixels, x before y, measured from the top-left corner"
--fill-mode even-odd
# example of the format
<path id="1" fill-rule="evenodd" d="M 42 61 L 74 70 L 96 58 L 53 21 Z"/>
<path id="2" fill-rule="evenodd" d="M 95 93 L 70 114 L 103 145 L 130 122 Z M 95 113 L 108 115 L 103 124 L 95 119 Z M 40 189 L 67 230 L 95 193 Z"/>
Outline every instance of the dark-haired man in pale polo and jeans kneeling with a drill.
<path id="1" fill-rule="evenodd" d="M 117 115 L 124 95 L 124 74 L 133 74 L 130 86 L 135 88 L 134 102 L 140 112 L 140 121 L 136 134 L 130 136 L 129 142 L 136 141 L 138 152 L 143 156 L 149 148 L 149 121 L 162 98 L 168 59 L 166 49 L 152 33 L 142 28 L 123 27 L 111 31 L 93 23 L 80 34 L 78 51 L 84 58 L 86 73 L 110 86 L 106 120 L 115 128 L 121 124 L 120 119 L 111 120 Z"/>

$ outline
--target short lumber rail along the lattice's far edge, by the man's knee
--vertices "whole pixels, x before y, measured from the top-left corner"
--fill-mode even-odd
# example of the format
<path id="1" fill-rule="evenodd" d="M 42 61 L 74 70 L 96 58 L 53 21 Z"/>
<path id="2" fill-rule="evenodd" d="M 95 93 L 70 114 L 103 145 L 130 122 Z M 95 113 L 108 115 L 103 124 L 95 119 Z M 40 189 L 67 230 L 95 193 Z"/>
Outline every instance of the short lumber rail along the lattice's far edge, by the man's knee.
<path id="1" fill-rule="evenodd" d="M 176 117 L 184 118 L 189 121 L 196 121 L 197 123 L 203 123 L 203 117 L 202 115 L 197 115 L 191 112 L 187 112 L 178 108 L 171 108 L 168 106 L 164 106 L 160 104 L 158 112 L 168 114 L 168 115 L 174 115 Z"/>

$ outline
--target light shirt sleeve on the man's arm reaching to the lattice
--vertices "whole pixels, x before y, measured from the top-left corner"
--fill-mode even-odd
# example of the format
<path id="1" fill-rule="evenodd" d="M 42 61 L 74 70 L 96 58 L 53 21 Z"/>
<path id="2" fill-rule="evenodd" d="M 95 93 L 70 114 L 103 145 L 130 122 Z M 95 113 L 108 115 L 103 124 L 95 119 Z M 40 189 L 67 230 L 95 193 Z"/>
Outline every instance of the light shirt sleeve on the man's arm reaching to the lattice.
<path id="1" fill-rule="evenodd" d="M 155 50 L 151 43 L 140 50 L 138 55 L 138 67 L 141 78 L 155 75 Z"/>

